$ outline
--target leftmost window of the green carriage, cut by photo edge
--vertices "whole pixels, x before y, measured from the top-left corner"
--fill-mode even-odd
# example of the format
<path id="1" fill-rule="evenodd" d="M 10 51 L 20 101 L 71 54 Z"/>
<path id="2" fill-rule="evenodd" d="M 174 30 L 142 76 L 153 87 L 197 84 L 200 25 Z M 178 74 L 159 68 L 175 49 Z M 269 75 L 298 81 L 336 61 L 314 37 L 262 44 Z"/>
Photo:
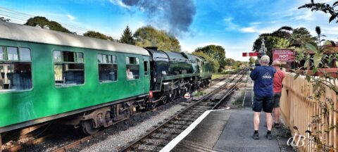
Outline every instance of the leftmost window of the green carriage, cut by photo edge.
<path id="1" fill-rule="evenodd" d="M 0 74 L 0 92 L 32 89 L 30 49 L 0 46 Z"/>

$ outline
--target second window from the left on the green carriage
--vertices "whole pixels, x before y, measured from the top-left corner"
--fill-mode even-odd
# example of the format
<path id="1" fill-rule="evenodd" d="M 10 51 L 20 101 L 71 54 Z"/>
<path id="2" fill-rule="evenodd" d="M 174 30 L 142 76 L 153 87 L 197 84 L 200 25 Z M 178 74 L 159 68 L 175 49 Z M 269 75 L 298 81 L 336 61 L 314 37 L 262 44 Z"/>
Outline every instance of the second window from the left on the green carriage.
<path id="1" fill-rule="evenodd" d="M 57 87 L 84 84 L 82 52 L 54 51 L 54 79 Z"/>

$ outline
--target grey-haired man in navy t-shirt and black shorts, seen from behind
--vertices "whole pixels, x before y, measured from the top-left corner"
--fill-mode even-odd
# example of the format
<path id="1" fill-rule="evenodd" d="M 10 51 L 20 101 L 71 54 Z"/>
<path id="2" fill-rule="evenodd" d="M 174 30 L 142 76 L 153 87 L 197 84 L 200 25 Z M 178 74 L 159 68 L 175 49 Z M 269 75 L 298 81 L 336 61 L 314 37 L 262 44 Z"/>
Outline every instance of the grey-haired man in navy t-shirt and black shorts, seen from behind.
<path id="1" fill-rule="evenodd" d="M 253 114 L 253 139 L 259 139 L 258 127 L 259 127 L 259 114 L 263 108 L 266 114 L 266 125 L 268 132 L 266 138 L 273 139 L 271 135 L 271 129 L 273 127 L 273 76 L 276 69 L 269 66 L 269 56 L 262 56 L 260 63 L 261 66 L 257 66 L 250 73 L 251 80 L 255 81 L 253 84 L 253 92 L 255 93 L 253 99 L 252 110 Z"/>

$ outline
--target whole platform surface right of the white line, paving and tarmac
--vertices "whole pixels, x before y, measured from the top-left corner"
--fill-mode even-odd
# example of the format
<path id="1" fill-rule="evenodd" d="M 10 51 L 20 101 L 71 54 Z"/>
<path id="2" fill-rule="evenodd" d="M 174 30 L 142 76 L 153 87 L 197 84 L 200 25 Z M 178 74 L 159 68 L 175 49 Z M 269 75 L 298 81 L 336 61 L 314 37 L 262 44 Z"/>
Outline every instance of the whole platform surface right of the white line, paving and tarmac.
<path id="1" fill-rule="evenodd" d="M 260 139 L 254 140 L 252 139 L 253 112 L 250 108 L 213 110 L 186 137 L 178 139 L 180 142 L 173 149 L 162 150 L 287 151 L 292 149 L 285 148 L 286 144 L 280 143 L 280 137 L 273 137 L 273 140 L 266 139 L 265 113 L 261 113 L 260 118 Z"/>

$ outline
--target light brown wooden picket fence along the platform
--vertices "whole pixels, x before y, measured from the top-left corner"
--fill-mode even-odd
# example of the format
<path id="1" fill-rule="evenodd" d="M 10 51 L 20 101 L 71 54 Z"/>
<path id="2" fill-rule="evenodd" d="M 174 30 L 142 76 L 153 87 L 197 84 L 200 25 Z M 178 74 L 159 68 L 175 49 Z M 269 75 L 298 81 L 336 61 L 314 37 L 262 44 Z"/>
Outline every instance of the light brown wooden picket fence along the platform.
<path id="1" fill-rule="evenodd" d="M 337 85 L 337 82 L 332 81 L 332 83 Z M 294 80 L 293 74 L 287 74 L 283 80 L 283 85 L 280 101 L 282 118 L 292 131 L 293 137 L 294 134 L 300 134 L 307 138 L 304 140 L 305 146 L 302 146 L 301 142 L 299 142 L 299 150 L 322 151 L 319 149 L 320 147 L 332 146 L 330 147 L 331 151 L 338 152 L 338 113 L 331 109 L 326 119 L 324 115 L 320 115 L 320 113 L 324 112 L 323 104 L 321 103 L 327 103 L 331 107 L 333 106 L 333 109 L 338 110 L 337 94 L 329 87 L 325 87 L 320 101 L 311 99 L 311 96 L 313 96 L 311 82 L 307 82 L 305 77 L 298 77 Z M 319 117 L 313 117 L 315 115 Z M 316 120 L 319 123 L 313 123 Z M 335 127 L 330 132 L 326 132 L 328 126 Z M 295 127 L 298 129 L 294 129 Z M 306 130 L 315 134 L 318 132 L 317 134 L 322 144 L 315 144 L 314 139 L 311 140 L 312 137 L 306 133 Z M 301 137 L 296 137 L 294 141 L 298 141 L 299 138 Z"/>

